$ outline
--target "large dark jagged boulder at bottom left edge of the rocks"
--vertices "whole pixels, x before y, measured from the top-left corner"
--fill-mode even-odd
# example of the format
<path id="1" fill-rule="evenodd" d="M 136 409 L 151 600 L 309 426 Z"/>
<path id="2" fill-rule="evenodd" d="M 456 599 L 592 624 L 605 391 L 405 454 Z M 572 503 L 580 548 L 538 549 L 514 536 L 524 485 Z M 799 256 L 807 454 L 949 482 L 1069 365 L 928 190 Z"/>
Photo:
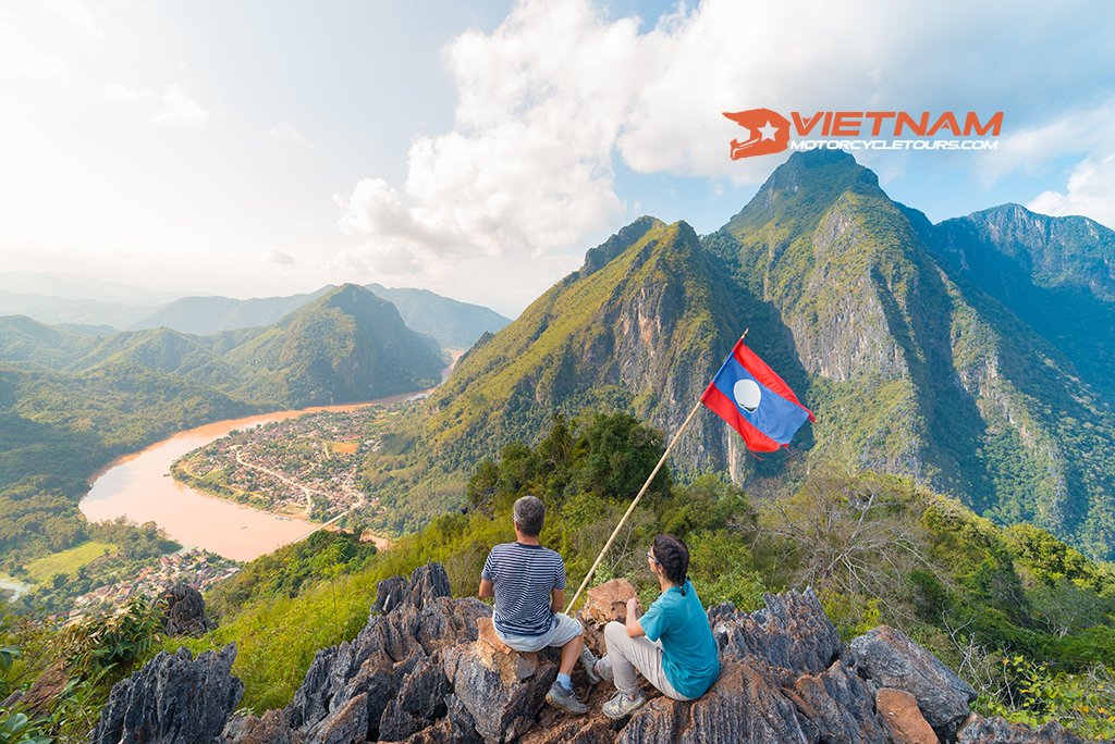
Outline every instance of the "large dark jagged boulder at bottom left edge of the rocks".
<path id="1" fill-rule="evenodd" d="M 232 676 L 236 646 L 206 652 L 161 652 L 142 669 L 113 686 L 90 742 L 210 744 L 219 741 L 236 708 L 244 683 Z"/>

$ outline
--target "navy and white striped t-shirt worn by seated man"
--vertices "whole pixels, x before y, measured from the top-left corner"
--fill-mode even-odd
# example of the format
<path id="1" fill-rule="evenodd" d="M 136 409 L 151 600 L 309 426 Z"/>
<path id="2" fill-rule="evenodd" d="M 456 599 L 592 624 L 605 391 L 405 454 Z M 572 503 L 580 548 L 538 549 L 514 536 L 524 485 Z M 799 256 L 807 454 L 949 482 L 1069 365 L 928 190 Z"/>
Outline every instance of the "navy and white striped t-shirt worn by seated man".
<path id="1" fill-rule="evenodd" d="M 492 548 L 481 578 L 495 589 L 492 621 L 504 635 L 540 636 L 550 630 L 554 589 L 565 588 L 565 561 L 541 545 L 504 542 Z"/>

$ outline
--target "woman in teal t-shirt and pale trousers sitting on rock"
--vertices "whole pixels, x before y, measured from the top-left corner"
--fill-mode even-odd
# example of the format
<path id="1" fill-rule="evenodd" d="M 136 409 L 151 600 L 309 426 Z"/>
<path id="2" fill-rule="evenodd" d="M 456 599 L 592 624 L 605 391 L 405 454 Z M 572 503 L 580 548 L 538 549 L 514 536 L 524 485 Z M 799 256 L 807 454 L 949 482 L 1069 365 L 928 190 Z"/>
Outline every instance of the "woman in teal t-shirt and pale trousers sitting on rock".
<path id="1" fill-rule="evenodd" d="M 689 548 L 672 535 L 659 535 L 647 562 L 662 590 L 658 599 L 641 618 L 636 616 L 639 600 L 628 600 L 627 623 L 604 626 L 608 654 L 603 658 L 588 648 L 581 652 L 590 682 L 615 684 L 615 696 L 603 705 L 610 718 L 622 718 L 647 702 L 636 672 L 676 701 L 700 697 L 720 675 L 708 615 L 686 576 Z"/>

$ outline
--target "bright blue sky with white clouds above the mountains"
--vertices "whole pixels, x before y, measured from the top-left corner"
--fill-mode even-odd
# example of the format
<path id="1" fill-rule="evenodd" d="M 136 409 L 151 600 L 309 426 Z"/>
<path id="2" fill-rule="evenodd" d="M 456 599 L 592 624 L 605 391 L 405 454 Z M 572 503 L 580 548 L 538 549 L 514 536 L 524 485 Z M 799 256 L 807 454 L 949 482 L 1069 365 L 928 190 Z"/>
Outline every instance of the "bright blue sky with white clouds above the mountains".
<path id="1" fill-rule="evenodd" d="M 1115 9 L 1086 2 L 108 2 L 0 9 L 0 268 L 516 313 L 641 214 L 710 232 L 785 155 L 721 110 L 1005 111 L 859 157 L 931 219 L 1115 224 Z"/>

